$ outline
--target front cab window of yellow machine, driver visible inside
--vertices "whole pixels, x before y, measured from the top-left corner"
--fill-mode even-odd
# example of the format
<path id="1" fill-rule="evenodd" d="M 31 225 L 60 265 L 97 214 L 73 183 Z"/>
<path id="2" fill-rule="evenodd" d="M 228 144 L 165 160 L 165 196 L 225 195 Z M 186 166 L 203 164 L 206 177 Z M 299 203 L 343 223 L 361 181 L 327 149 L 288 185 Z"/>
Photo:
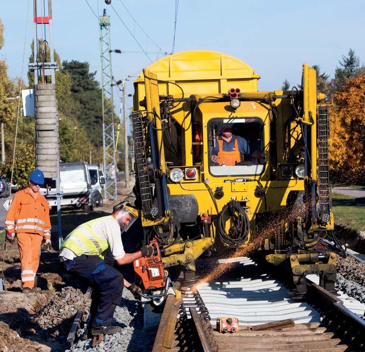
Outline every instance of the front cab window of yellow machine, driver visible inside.
<path id="1" fill-rule="evenodd" d="M 265 164 L 263 127 L 259 118 L 212 119 L 208 124 L 210 173 L 261 174 Z"/>

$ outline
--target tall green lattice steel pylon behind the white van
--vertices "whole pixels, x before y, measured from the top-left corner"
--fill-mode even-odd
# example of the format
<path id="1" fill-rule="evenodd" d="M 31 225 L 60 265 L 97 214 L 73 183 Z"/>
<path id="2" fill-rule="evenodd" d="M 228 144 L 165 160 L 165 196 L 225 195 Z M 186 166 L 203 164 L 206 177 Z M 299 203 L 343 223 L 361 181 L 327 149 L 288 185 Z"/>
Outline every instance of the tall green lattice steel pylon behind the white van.
<path id="1" fill-rule="evenodd" d="M 100 59 L 101 59 L 101 91 L 103 111 L 103 168 L 106 177 L 104 186 L 104 199 L 116 201 L 117 189 L 117 163 L 115 157 L 115 123 L 113 105 L 113 73 L 112 57 L 110 50 L 110 16 L 104 9 L 100 17 Z M 108 179 L 114 182 L 108 183 Z"/>

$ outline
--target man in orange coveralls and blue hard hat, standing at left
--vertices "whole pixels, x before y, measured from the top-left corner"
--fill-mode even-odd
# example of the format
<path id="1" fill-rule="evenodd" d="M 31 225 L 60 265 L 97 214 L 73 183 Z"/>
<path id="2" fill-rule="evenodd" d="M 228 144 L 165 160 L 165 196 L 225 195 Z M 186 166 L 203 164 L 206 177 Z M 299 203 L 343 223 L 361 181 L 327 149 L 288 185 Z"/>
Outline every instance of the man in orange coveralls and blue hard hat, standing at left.
<path id="1" fill-rule="evenodd" d="M 23 293 L 39 291 L 34 279 L 39 266 L 43 238 L 45 246 L 51 245 L 51 222 L 47 200 L 39 193 L 44 184 L 41 170 L 29 176 L 29 186 L 16 192 L 5 218 L 6 240 L 12 243 L 16 234 L 21 262 Z"/>

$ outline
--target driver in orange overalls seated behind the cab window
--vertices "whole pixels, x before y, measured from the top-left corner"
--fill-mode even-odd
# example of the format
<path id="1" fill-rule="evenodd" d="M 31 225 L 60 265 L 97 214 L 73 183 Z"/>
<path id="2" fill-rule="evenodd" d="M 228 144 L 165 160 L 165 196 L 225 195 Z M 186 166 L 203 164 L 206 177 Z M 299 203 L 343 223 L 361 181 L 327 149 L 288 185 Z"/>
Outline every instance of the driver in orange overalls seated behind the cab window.
<path id="1" fill-rule="evenodd" d="M 248 142 L 233 135 L 231 124 L 223 123 L 212 150 L 211 160 L 218 165 L 234 166 L 250 154 Z"/>

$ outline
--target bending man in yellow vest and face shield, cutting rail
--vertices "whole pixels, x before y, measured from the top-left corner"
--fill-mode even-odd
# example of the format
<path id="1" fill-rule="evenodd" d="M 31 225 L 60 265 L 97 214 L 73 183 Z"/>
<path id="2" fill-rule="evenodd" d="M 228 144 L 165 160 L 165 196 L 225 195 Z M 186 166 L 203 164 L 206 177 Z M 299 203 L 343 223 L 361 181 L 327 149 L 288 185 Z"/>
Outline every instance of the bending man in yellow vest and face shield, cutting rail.
<path id="1" fill-rule="evenodd" d="M 111 215 L 99 217 L 77 226 L 62 242 L 60 261 L 71 274 L 83 279 L 93 288 L 91 334 L 115 334 L 121 327 L 112 326 L 115 308 L 120 304 L 123 285 L 132 293 L 139 289 L 124 280 L 123 275 L 104 261 L 111 253 L 118 265 L 150 257 L 153 249 L 143 246 L 135 253 L 125 253 L 122 236 L 138 217 L 138 211 L 128 203 L 119 203 Z M 91 309 L 93 310 L 93 309 Z"/>

